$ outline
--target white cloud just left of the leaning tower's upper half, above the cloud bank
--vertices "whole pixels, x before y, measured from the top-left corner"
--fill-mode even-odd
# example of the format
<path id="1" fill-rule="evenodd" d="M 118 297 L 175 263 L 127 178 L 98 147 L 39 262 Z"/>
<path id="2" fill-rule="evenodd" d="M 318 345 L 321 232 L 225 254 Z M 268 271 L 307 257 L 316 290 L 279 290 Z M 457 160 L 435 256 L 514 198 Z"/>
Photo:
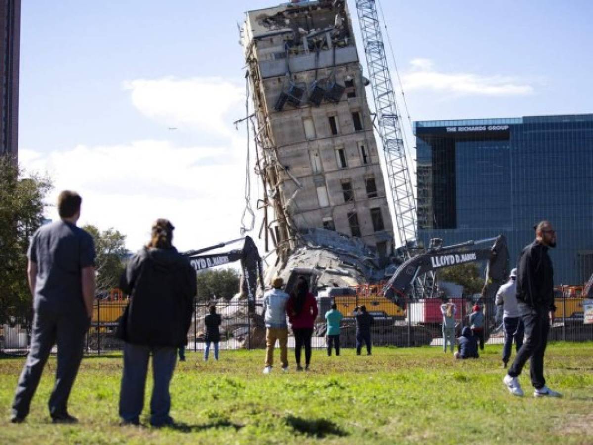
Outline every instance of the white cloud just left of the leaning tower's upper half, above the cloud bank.
<path id="1" fill-rule="evenodd" d="M 221 78 L 135 79 L 123 87 L 131 91 L 133 105 L 151 119 L 224 136 L 232 131 L 229 121 L 237 118 L 227 114 L 242 110 L 245 102 L 245 88 Z"/>

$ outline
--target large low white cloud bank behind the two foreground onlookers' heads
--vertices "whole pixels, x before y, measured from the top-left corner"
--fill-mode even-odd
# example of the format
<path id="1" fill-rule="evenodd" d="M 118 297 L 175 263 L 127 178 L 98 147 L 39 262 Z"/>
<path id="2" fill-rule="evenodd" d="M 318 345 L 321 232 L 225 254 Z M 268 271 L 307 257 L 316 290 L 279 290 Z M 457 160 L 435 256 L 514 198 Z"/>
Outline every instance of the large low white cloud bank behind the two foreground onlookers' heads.
<path id="1" fill-rule="evenodd" d="M 81 225 L 114 227 L 136 250 L 148 241 L 152 221 L 165 217 L 176 226 L 177 247 L 189 250 L 238 238 L 244 147 L 243 139 L 232 139 L 228 149 L 142 140 L 51 153 L 22 150 L 19 159 L 28 171 L 47 171 L 53 178 L 49 203 L 61 190 L 81 194 Z M 220 162 L 209 162 L 213 156 Z M 55 209 L 47 213 L 58 219 Z"/>

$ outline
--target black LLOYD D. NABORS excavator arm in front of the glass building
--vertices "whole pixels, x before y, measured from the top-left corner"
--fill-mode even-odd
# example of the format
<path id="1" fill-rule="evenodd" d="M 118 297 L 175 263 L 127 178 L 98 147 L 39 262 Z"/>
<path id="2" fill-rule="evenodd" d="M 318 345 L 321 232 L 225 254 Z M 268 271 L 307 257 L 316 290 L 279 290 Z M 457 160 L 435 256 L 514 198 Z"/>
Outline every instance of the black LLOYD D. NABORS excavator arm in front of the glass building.
<path id="1" fill-rule="evenodd" d="M 509 274 L 509 251 L 503 235 L 451 246 L 436 245 L 425 253 L 404 261 L 385 284 L 382 292 L 385 297 L 403 306 L 417 277 L 444 267 L 475 261 L 488 261 L 482 293 L 484 299 L 495 297 Z"/>

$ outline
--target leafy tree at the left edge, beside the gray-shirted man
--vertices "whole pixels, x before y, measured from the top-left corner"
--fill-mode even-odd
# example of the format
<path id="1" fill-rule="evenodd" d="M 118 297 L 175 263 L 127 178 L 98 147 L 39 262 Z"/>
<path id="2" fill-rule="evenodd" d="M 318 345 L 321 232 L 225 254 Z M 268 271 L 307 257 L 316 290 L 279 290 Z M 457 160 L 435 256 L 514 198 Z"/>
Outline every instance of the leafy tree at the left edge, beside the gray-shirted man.
<path id="1" fill-rule="evenodd" d="M 0 324 L 30 321 L 26 254 L 31 235 L 43 223 L 43 201 L 51 189 L 49 178 L 24 178 L 11 159 L 0 156 Z"/>

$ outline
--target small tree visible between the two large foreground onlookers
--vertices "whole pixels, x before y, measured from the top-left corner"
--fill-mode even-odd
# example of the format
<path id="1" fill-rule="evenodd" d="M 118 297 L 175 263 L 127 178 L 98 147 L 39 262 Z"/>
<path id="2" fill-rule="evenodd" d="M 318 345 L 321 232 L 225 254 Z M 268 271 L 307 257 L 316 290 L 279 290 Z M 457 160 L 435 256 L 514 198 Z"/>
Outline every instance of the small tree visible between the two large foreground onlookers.
<path id="1" fill-rule="evenodd" d="M 126 235 L 114 228 L 101 232 L 93 225 L 82 227 L 93 236 L 95 241 L 95 273 L 97 290 L 109 290 L 119 285 L 119 278 L 124 271 L 123 260 L 127 253 Z"/>

